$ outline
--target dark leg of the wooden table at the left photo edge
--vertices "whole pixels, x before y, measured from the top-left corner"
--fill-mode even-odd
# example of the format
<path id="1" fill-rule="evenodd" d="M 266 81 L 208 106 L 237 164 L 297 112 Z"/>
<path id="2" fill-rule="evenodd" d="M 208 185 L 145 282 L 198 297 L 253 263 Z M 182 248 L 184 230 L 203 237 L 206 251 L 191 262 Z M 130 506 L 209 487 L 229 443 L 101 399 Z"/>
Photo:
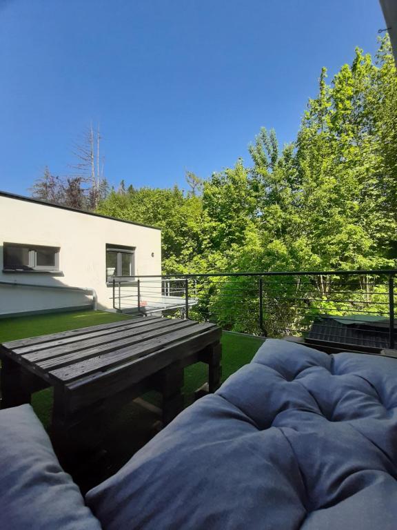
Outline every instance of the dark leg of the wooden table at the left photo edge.
<path id="1" fill-rule="evenodd" d="M 30 403 L 30 389 L 23 384 L 23 369 L 8 357 L 1 360 L 1 409 Z"/>

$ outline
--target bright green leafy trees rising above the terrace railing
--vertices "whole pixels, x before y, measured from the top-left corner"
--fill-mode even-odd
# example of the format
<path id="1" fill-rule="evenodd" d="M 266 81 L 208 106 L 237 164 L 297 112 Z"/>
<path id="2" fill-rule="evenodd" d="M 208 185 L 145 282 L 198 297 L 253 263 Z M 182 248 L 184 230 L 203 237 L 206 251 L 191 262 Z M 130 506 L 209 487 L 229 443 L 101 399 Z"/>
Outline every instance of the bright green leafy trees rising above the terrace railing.
<path id="1" fill-rule="evenodd" d="M 125 186 L 99 212 L 163 230 L 165 273 L 380 268 L 397 257 L 397 77 L 387 37 L 323 68 L 296 140 L 262 128 L 252 163 L 191 190 Z M 199 189 L 201 193 L 196 193 Z"/>

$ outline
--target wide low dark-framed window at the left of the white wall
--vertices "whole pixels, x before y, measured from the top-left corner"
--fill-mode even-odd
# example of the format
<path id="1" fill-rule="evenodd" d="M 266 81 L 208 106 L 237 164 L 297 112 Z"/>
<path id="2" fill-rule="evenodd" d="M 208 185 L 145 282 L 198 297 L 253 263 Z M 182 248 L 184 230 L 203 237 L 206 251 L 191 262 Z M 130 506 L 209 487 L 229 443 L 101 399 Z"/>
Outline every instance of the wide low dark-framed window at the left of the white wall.
<path id="1" fill-rule="evenodd" d="M 4 271 L 58 271 L 59 248 L 4 243 Z"/>

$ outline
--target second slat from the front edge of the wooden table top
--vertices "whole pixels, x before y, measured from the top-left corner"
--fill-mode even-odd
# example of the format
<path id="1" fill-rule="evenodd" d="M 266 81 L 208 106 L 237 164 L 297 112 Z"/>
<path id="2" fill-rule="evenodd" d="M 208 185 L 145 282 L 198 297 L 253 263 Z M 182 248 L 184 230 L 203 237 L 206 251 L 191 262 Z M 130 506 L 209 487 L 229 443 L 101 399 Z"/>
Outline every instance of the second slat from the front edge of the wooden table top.
<path id="1" fill-rule="evenodd" d="M 155 337 L 161 337 L 162 335 L 166 335 L 171 333 L 174 330 L 179 330 L 183 328 L 187 328 L 192 326 L 189 321 L 182 321 L 182 322 L 172 322 L 170 321 L 169 324 L 163 325 L 162 327 L 156 328 L 156 329 L 150 329 L 149 331 L 146 331 L 145 333 L 139 333 L 131 335 L 131 337 L 127 340 L 123 340 L 122 342 L 119 341 L 119 344 L 117 343 L 108 343 L 104 345 L 104 349 L 101 350 L 101 353 L 108 353 L 110 351 L 117 351 L 117 346 L 119 346 L 119 349 L 121 349 L 122 346 L 133 346 L 134 344 L 139 344 L 145 342 L 145 340 L 150 340 Z M 116 346 L 115 346 L 116 344 Z M 54 357 L 51 359 L 43 360 L 40 362 L 36 362 L 36 366 L 39 366 L 42 370 L 53 370 L 61 368 L 61 366 L 70 366 L 73 363 L 76 362 L 82 362 L 84 360 L 90 359 L 91 357 L 97 357 L 98 356 L 98 349 L 96 348 L 90 348 L 88 350 L 84 351 L 74 351 L 72 353 L 69 353 L 68 355 L 62 355 L 61 357 Z"/>

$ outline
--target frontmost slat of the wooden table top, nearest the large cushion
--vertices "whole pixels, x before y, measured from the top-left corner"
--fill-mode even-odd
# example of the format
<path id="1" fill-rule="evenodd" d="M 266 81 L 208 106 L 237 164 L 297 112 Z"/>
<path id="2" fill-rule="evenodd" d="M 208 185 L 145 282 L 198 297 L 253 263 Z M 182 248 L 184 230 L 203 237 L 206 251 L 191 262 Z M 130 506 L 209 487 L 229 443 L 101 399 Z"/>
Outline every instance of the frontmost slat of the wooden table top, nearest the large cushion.
<path id="1" fill-rule="evenodd" d="M 103 371 L 103 369 L 110 369 L 112 366 L 128 362 L 133 358 L 136 359 L 154 351 L 161 350 L 161 348 L 169 346 L 173 342 L 186 340 L 187 344 L 187 339 L 194 337 L 194 335 L 197 335 L 198 333 L 210 331 L 212 328 L 214 328 L 214 324 L 196 324 L 193 322 L 193 325 L 187 329 L 173 331 L 170 334 L 147 340 L 146 342 L 143 342 L 143 344 L 138 344 L 134 347 L 128 346 L 116 351 L 110 351 L 103 355 L 91 357 L 88 360 L 72 364 L 72 366 L 65 366 L 64 368 L 50 371 L 49 374 L 59 381 L 68 382 L 82 377 L 83 375 Z M 159 357 L 161 357 L 161 352 L 159 353 Z"/>

